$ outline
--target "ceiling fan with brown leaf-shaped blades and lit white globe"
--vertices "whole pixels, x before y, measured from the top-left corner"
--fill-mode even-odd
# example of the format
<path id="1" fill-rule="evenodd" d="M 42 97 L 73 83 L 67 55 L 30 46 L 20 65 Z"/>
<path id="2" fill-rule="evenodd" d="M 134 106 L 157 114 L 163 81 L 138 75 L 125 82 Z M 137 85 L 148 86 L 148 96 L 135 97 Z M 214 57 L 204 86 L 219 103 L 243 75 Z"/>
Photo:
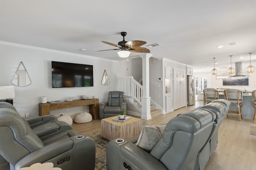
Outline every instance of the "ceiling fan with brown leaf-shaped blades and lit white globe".
<path id="1" fill-rule="evenodd" d="M 144 47 L 140 47 L 144 44 L 146 44 L 146 41 L 139 41 L 139 40 L 134 40 L 134 41 L 125 41 L 124 37 L 127 35 L 126 32 L 121 32 L 121 35 L 123 36 L 123 41 L 118 42 L 117 44 L 114 43 L 109 43 L 106 41 L 101 41 L 102 43 L 112 45 L 114 47 L 118 47 L 118 49 L 108 49 L 108 50 L 100 50 L 100 51 L 110 51 L 110 50 L 120 50 L 118 51 L 119 57 L 128 57 L 131 52 L 134 53 L 150 53 L 150 50 Z"/>

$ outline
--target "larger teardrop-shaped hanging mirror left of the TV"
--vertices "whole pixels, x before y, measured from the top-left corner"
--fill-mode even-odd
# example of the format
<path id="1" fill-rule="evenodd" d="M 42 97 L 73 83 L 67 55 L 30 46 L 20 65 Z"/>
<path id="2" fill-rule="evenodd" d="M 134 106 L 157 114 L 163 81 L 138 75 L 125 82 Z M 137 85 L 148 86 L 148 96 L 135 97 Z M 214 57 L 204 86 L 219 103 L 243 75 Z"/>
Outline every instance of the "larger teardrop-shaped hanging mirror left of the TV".
<path id="1" fill-rule="evenodd" d="M 20 62 L 20 65 L 18 66 L 18 69 L 14 74 L 14 77 L 12 79 L 12 84 L 19 87 L 28 86 L 29 84 L 31 84 L 30 78 L 28 76 L 28 72 L 26 71 L 26 68 L 22 63 L 22 61 Z"/>

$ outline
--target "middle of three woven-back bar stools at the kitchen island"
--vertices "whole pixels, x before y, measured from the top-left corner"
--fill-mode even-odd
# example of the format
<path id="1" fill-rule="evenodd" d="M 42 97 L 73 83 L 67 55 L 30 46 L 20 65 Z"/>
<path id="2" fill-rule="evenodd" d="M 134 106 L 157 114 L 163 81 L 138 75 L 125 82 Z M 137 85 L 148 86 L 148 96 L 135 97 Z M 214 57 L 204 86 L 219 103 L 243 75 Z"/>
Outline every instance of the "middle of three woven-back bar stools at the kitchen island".
<path id="1" fill-rule="evenodd" d="M 243 106 L 243 92 L 239 89 L 225 89 L 224 97 L 230 101 L 231 104 L 235 104 L 238 107 L 238 111 L 229 110 L 225 119 L 228 115 L 238 116 L 239 121 L 242 121 L 242 106 Z"/>

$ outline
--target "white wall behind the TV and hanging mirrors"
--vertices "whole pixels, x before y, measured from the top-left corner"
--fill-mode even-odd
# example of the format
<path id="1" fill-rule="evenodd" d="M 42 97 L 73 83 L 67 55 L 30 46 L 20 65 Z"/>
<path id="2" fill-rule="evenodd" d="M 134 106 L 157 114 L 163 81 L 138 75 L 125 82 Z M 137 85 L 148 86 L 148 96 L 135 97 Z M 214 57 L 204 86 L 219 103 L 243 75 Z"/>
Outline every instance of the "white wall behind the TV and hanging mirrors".
<path id="1" fill-rule="evenodd" d="M 14 86 L 16 92 L 14 106 L 20 114 L 30 113 L 30 117 L 37 116 L 41 96 L 46 96 L 47 101 L 53 101 L 66 100 L 70 96 L 74 99 L 82 99 L 81 95 L 86 95 L 95 96 L 100 102 L 107 102 L 108 92 L 116 90 L 117 87 L 116 67 L 119 65 L 117 61 L 3 41 L 0 41 L 0 51 L 0 86 L 13 85 L 12 78 L 21 61 L 32 82 L 25 87 Z M 51 61 L 93 65 L 94 87 L 52 88 Z M 100 83 L 104 70 L 110 79 L 108 86 Z M 88 106 L 72 107 L 68 111 L 66 109 L 52 110 L 51 114 L 64 113 L 73 116 L 75 113 L 88 110 Z"/>

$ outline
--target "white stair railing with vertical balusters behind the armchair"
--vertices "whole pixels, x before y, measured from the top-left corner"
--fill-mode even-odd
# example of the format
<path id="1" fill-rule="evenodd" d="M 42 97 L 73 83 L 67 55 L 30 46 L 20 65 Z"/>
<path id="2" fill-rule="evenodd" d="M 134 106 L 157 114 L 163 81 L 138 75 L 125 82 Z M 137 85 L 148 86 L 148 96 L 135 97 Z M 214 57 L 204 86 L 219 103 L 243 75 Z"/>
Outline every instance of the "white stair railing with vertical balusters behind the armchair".
<path id="1" fill-rule="evenodd" d="M 134 80 L 133 76 L 117 78 L 118 91 L 124 92 L 125 96 L 130 96 L 141 105 L 143 96 L 142 85 Z"/>

